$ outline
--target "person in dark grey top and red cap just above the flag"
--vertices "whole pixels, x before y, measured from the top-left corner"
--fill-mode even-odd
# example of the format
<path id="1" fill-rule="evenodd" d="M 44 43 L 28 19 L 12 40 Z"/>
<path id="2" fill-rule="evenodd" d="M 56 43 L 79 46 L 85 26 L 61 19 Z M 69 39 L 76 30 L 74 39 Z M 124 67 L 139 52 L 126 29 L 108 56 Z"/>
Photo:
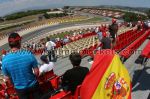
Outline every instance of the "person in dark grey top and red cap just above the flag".
<path id="1" fill-rule="evenodd" d="M 103 32 L 103 38 L 101 40 L 102 49 L 111 49 L 111 40 L 107 37 L 106 32 Z"/>

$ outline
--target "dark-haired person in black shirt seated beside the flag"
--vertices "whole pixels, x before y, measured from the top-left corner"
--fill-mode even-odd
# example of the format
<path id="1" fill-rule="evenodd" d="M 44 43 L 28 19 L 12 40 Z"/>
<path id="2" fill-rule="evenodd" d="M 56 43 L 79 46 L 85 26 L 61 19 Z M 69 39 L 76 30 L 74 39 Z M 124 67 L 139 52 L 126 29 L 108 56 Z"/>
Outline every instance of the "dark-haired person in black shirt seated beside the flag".
<path id="1" fill-rule="evenodd" d="M 73 68 L 64 73 L 62 77 L 62 86 L 66 88 L 67 91 L 71 91 L 71 93 L 74 94 L 76 87 L 83 82 L 89 69 L 80 66 L 81 56 L 79 53 L 72 53 L 69 59 Z"/>

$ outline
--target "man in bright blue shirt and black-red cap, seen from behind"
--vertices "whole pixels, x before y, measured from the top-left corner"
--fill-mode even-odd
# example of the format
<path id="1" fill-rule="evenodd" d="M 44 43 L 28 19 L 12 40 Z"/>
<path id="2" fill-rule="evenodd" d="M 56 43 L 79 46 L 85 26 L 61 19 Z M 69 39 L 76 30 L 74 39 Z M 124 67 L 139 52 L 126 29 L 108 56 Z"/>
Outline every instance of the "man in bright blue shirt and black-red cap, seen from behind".
<path id="1" fill-rule="evenodd" d="M 21 37 L 11 33 L 8 37 L 10 52 L 2 59 L 2 72 L 6 82 L 11 82 L 19 99 L 40 99 L 37 77 L 38 63 L 32 52 L 21 49 Z"/>

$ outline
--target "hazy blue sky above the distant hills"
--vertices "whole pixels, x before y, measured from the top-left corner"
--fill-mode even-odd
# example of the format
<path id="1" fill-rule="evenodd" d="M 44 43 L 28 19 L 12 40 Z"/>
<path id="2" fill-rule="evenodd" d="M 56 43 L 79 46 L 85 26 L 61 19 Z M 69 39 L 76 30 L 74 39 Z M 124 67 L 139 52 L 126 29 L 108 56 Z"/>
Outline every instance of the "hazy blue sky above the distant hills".
<path id="1" fill-rule="evenodd" d="M 150 8 L 150 0 L 0 0 L 0 16 L 26 9 L 57 8 L 64 5 L 120 5 Z"/>

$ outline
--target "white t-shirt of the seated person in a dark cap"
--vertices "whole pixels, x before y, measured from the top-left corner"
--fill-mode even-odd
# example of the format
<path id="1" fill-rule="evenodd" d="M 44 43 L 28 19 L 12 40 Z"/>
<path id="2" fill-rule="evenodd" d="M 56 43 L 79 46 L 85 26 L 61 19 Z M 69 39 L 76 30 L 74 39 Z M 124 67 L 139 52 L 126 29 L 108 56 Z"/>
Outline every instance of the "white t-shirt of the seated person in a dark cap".
<path id="1" fill-rule="evenodd" d="M 49 64 L 43 64 L 41 65 L 41 67 L 39 68 L 40 74 L 41 73 L 45 73 L 45 72 L 49 72 L 54 68 L 54 63 L 53 62 L 49 62 Z"/>

